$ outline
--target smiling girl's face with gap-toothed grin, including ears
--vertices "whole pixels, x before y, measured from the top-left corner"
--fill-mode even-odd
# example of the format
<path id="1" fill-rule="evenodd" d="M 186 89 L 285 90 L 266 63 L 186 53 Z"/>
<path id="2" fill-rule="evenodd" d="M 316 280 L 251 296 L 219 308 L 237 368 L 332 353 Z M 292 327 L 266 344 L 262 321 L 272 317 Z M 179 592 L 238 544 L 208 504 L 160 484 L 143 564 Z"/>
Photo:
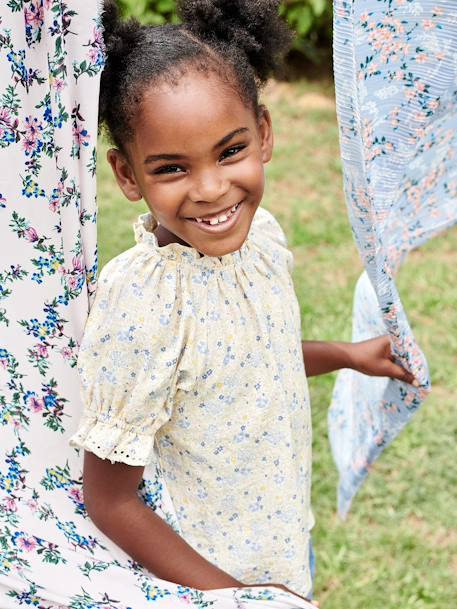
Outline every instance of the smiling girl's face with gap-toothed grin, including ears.
<path id="1" fill-rule="evenodd" d="M 126 197 L 145 199 L 159 234 L 207 256 L 240 249 L 271 158 L 268 111 L 257 118 L 216 76 L 191 73 L 146 92 L 134 133 L 126 156 L 110 150 L 108 160 Z"/>

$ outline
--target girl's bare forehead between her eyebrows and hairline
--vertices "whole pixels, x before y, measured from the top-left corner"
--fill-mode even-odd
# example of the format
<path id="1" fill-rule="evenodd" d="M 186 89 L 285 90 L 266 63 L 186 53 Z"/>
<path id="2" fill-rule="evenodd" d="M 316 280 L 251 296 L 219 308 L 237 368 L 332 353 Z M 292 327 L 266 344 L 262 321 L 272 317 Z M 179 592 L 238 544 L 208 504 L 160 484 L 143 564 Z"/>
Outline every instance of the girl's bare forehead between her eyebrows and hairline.
<path id="1" fill-rule="evenodd" d="M 183 150 L 197 141 L 204 148 L 205 142 L 214 146 L 243 127 L 255 130 L 256 117 L 236 91 L 216 76 L 191 73 L 176 84 L 151 85 L 139 108 L 134 141 L 148 151 Z"/>

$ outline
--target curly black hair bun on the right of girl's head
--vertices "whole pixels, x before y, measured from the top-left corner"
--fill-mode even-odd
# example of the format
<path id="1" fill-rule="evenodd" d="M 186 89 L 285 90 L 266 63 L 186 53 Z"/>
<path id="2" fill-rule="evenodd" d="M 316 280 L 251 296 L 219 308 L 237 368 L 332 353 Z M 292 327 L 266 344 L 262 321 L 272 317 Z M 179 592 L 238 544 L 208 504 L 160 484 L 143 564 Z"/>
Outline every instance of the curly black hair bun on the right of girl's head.
<path id="1" fill-rule="evenodd" d="M 279 17 L 280 0 L 179 0 L 186 27 L 210 44 L 241 48 L 261 82 L 277 68 L 291 32 Z"/>

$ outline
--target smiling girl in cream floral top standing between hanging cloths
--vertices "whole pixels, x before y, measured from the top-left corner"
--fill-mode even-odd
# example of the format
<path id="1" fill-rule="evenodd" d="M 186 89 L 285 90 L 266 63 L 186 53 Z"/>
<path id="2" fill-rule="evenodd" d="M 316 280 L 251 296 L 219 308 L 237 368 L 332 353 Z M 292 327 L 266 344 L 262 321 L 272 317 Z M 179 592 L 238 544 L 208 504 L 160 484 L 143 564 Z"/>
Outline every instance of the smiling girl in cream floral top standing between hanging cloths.
<path id="1" fill-rule="evenodd" d="M 130 201 L 150 214 L 103 270 L 79 356 L 84 495 L 156 576 L 201 590 L 311 590 L 305 376 L 412 382 L 379 338 L 301 343 L 292 256 L 259 207 L 273 149 L 258 86 L 287 49 L 279 2 L 187 0 L 184 25 L 105 14 L 101 121 Z M 174 528 L 138 496 L 157 463 Z"/>

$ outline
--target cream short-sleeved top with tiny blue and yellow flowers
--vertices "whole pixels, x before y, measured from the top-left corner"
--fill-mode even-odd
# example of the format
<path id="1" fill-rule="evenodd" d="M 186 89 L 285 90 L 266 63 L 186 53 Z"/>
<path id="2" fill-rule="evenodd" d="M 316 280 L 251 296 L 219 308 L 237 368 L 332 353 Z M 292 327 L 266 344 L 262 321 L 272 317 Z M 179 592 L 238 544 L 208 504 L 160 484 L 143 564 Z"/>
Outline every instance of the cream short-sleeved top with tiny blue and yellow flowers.
<path id="1" fill-rule="evenodd" d="M 149 229 L 149 230 L 148 230 Z M 73 444 L 157 461 L 183 537 L 245 583 L 307 594 L 311 425 L 292 255 L 259 209 L 220 258 L 159 247 L 151 217 L 102 271 Z"/>

